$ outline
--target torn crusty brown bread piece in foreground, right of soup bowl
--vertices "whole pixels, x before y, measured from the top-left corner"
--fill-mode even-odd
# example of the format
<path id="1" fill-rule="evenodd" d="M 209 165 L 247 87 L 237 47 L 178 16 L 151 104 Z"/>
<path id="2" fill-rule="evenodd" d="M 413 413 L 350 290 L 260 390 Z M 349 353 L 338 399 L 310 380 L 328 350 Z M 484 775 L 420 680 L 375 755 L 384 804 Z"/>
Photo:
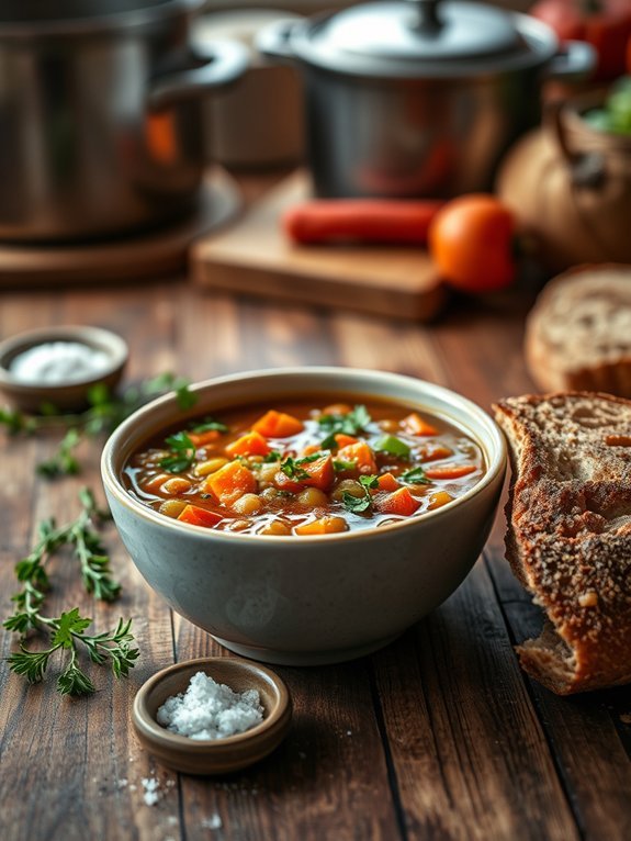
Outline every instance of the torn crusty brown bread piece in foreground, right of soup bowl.
<path id="1" fill-rule="evenodd" d="M 547 615 L 522 666 L 560 695 L 631 682 L 631 401 L 494 406 L 509 444 L 507 559 Z"/>

